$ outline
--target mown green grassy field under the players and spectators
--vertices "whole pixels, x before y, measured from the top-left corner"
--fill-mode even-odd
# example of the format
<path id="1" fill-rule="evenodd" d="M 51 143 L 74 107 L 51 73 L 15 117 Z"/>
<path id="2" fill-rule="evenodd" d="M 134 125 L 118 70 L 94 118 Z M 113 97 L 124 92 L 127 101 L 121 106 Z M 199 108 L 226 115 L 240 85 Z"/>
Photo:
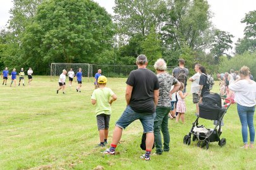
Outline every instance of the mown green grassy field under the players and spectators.
<path id="1" fill-rule="evenodd" d="M 107 86 L 118 96 L 113 103 L 109 143 L 114 123 L 125 110 L 125 81 L 108 79 Z M 224 147 L 217 142 L 210 143 L 209 150 L 198 148 L 197 142 L 187 146 L 183 137 L 195 121 L 190 94 L 185 124 L 169 120 L 170 152 L 142 161 L 139 121 L 123 132 L 116 156 L 104 156 L 101 152 L 106 148 L 95 148 L 99 137 L 95 106 L 90 103 L 92 79 L 82 84 L 82 93 L 76 93 L 76 84 L 67 87 L 66 94 L 56 94 L 57 88 L 58 80 L 50 81 L 48 76 L 34 76 L 30 86 L 0 86 L 0 169 L 256 169 L 256 150 L 240 148 L 243 142 L 236 105 L 224 116 Z M 217 85 L 213 91 L 218 91 Z M 213 127 L 209 120 L 200 119 L 200 124 Z"/>

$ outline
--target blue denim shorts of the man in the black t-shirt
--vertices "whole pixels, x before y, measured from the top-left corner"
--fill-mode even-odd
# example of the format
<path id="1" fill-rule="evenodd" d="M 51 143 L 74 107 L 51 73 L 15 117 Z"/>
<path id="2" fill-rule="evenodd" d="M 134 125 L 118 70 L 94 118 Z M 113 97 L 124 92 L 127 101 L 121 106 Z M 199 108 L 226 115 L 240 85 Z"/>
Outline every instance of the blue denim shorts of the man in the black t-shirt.
<path id="1" fill-rule="evenodd" d="M 135 120 L 140 120 L 143 126 L 143 133 L 154 132 L 154 118 L 155 113 L 138 113 L 133 111 L 130 106 L 127 106 L 119 120 L 116 122 L 116 126 L 125 129 Z"/>

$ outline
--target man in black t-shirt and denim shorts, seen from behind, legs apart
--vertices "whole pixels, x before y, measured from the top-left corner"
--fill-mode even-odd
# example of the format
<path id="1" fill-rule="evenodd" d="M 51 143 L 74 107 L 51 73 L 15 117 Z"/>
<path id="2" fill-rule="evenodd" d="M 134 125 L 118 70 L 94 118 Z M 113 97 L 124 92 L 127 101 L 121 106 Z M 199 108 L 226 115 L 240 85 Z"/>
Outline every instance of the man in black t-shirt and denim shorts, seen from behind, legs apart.
<path id="1" fill-rule="evenodd" d="M 146 152 L 140 158 L 150 160 L 150 153 L 154 144 L 154 117 L 155 106 L 159 98 L 159 81 L 154 72 L 146 68 L 147 57 L 145 55 L 138 55 L 136 64 L 138 69 L 131 71 L 126 81 L 126 110 L 116 122 L 113 142 L 110 149 L 107 149 L 104 154 L 115 154 L 123 129 L 135 120 L 140 120 L 143 133 L 146 133 L 147 136 Z"/>

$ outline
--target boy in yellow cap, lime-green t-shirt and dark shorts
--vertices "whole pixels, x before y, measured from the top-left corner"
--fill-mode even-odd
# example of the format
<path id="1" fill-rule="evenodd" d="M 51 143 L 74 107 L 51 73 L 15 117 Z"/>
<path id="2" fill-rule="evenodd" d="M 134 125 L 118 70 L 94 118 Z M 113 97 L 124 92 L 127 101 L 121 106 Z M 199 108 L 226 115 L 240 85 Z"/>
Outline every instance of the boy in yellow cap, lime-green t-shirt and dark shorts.
<path id="1" fill-rule="evenodd" d="M 107 78 L 99 76 L 99 88 L 92 93 L 92 105 L 96 105 L 95 112 L 97 116 L 97 127 L 99 130 L 99 139 L 101 143 L 97 146 L 104 147 L 107 144 L 107 136 L 109 133 L 109 120 L 111 115 L 111 104 L 117 99 L 116 94 L 110 89 L 106 88 Z M 109 98 L 112 99 L 109 101 Z"/>

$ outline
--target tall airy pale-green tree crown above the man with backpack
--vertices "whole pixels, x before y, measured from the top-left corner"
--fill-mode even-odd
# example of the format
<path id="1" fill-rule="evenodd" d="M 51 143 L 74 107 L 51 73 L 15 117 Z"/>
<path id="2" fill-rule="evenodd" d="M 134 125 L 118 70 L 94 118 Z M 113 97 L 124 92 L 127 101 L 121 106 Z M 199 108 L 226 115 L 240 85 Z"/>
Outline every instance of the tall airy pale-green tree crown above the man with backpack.
<path id="1" fill-rule="evenodd" d="M 204 49 L 210 43 L 209 4 L 204 0 L 168 0 L 162 35 L 166 47 L 176 51 L 188 46 Z"/>

